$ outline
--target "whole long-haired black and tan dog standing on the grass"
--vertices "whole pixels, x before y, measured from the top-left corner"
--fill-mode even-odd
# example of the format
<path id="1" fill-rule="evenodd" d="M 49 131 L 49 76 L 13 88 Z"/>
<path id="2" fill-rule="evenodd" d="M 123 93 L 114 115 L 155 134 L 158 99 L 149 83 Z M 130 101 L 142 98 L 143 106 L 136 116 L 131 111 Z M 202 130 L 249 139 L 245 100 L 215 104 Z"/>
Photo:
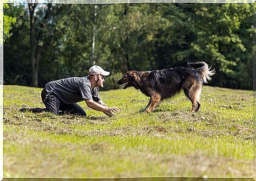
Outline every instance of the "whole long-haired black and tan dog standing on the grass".
<path id="1" fill-rule="evenodd" d="M 175 67 L 159 71 L 128 71 L 118 80 L 118 84 L 134 87 L 150 97 L 144 113 L 152 112 L 161 100 L 173 97 L 181 90 L 192 102 L 191 112 L 200 109 L 200 95 L 203 83 L 211 81 L 215 69 L 211 70 L 205 62 L 190 62 L 188 67 Z"/>

